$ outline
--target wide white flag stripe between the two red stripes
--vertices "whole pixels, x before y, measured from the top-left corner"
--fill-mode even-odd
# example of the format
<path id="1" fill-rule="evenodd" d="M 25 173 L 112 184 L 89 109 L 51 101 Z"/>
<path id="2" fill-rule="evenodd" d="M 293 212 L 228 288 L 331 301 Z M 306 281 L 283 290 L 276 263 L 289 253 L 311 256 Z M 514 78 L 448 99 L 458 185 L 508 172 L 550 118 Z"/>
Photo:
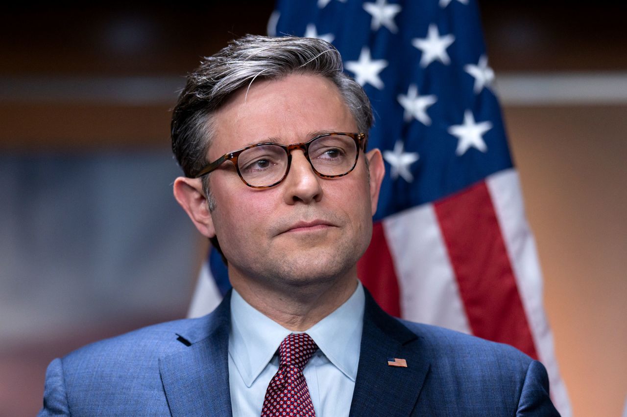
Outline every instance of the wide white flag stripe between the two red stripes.
<path id="1" fill-rule="evenodd" d="M 387 217 L 383 228 L 398 275 L 403 318 L 470 333 L 433 205 Z"/>

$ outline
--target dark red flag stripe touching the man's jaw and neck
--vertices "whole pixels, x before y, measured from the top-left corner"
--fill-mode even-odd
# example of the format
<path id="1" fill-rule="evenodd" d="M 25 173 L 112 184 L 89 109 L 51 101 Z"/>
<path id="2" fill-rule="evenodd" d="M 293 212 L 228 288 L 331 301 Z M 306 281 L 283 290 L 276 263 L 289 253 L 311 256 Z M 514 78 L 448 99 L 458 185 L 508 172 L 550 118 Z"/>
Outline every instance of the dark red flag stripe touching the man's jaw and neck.
<path id="1" fill-rule="evenodd" d="M 387 314 L 401 317 L 398 279 L 381 222 L 372 226 L 372 240 L 357 262 L 357 275 Z"/>

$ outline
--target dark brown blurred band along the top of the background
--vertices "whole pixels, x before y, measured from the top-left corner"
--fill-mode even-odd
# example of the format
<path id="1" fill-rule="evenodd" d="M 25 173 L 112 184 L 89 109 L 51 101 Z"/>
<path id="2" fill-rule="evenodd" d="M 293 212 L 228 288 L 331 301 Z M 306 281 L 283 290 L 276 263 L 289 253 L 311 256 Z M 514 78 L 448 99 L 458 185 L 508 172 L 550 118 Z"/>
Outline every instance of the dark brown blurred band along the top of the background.
<path id="1" fill-rule="evenodd" d="M 265 34 L 274 3 L 14 3 L 0 14 L 0 76 L 184 75 L 229 39 Z M 479 3 L 497 71 L 627 69 L 625 2 Z"/>

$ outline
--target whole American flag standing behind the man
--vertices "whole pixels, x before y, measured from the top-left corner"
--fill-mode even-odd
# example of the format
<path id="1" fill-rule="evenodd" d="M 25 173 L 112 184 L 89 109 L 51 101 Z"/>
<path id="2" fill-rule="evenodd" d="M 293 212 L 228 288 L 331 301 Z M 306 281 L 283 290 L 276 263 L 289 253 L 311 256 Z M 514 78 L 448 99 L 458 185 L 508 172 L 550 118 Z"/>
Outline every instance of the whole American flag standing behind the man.
<path id="1" fill-rule="evenodd" d="M 515 346 L 571 415 L 476 0 L 279 0 L 273 36 L 320 38 L 370 97 L 386 161 L 359 278 L 390 314 Z M 191 315 L 229 288 L 213 251 Z"/>

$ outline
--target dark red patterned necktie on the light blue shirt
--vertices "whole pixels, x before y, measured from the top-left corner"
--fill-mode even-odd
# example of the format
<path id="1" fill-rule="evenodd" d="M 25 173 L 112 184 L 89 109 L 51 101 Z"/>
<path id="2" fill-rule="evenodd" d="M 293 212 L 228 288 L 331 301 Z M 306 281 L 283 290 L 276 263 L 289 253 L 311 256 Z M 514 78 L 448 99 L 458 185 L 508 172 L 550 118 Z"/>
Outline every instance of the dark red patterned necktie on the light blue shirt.
<path id="1" fill-rule="evenodd" d="M 292 333 L 283 339 L 278 348 L 278 371 L 268 384 L 261 417 L 315 417 L 303 369 L 317 350 L 307 333 Z"/>

